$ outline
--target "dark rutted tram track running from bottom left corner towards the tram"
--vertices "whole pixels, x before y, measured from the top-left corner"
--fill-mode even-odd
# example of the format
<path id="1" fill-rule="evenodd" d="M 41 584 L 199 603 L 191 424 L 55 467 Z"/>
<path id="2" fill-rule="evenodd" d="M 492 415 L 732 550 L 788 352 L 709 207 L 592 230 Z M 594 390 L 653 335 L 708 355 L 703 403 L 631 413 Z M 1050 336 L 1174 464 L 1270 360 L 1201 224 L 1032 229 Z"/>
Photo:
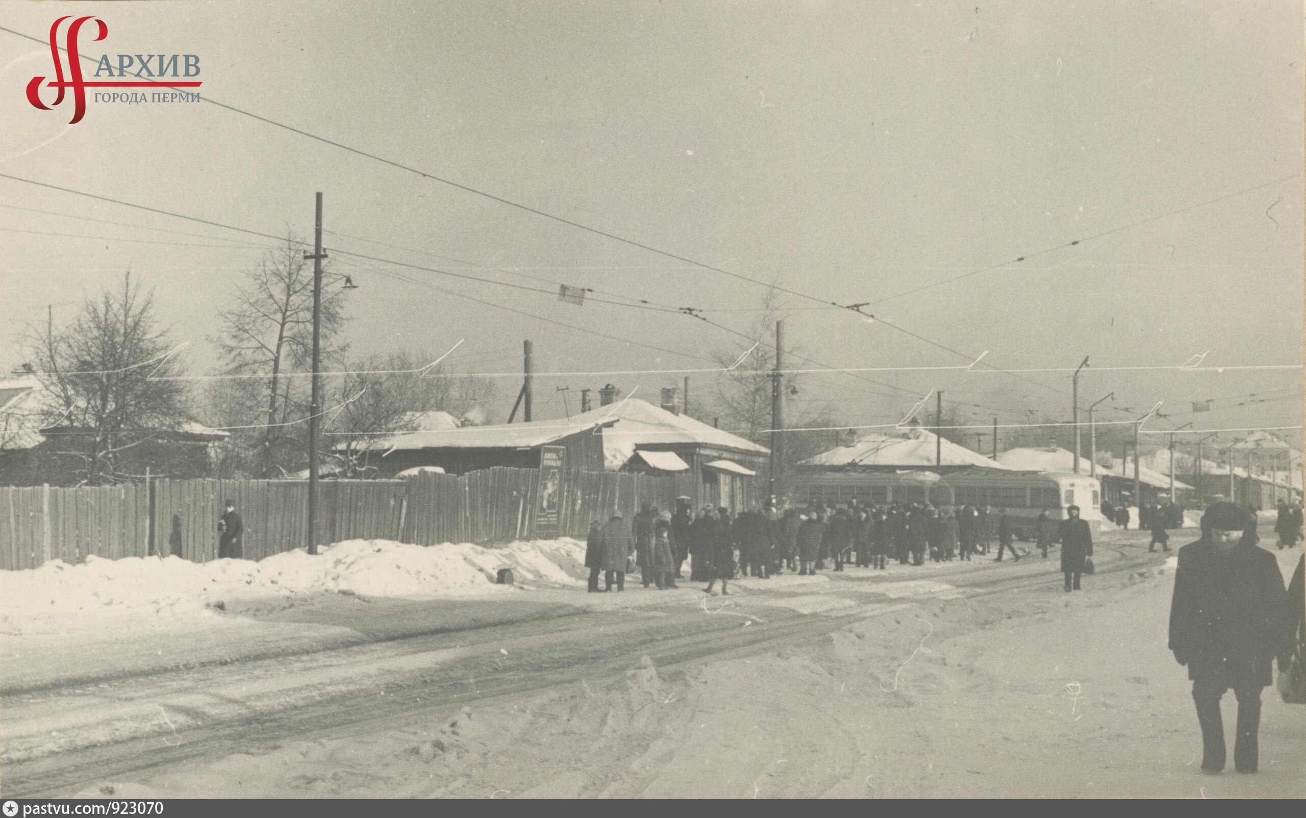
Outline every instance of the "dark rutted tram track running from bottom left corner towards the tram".
<path id="1" fill-rule="evenodd" d="M 1096 575 L 1110 576 L 1156 563 L 1145 551 L 1127 554 L 1124 548 L 1124 544 L 1098 544 L 1100 553 L 1110 550 L 1117 557 L 1102 561 Z M 934 580 L 934 576 L 929 579 Z M 991 568 L 986 570 L 981 564 L 953 570 L 939 578 L 939 581 L 944 579 L 963 592 L 960 598 L 970 600 L 1059 585 L 1063 576 L 1051 571 L 1047 575 L 1021 572 L 994 576 Z M 125 741 L 90 744 L 8 763 L 3 768 L 0 791 L 10 797 L 54 797 L 69 794 L 72 789 L 93 780 L 144 777 L 187 762 L 249 753 L 287 740 L 306 741 L 394 729 L 423 721 L 435 723 L 451 708 L 464 704 L 488 704 L 581 681 L 615 679 L 641 656 L 652 659 L 662 673 L 682 673 L 704 660 L 748 656 L 790 642 L 810 644 L 812 638 L 846 627 L 850 622 L 930 601 L 930 597 L 865 600 L 862 597 L 876 596 L 875 585 L 879 583 L 854 579 L 840 580 L 837 584 L 849 587 L 829 592 L 848 592 L 858 597 L 859 602 L 852 608 L 812 615 L 794 612 L 781 617 L 759 615 L 750 621 L 748 627 L 743 627 L 738 618 L 717 619 L 683 612 L 666 625 L 650 626 L 648 621 L 639 619 L 618 621 L 615 625 L 609 622 L 597 634 L 592 627 L 577 634 L 581 629 L 558 627 L 556 619 L 546 621 L 539 623 L 549 629 L 543 632 L 518 629 L 508 640 L 487 640 L 492 644 L 481 646 L 456 666 L 432 668 L 388 679 L 366 695 L 337 695 L 278 712 L 217 720 L 183 729 L 161 728 Z M 767 605 L 761 595 L 743 598 L 755 602 L 759 613 L 782 610 Z M 576 621 L 573 617 L 567 619 L 568 623 Z M 613 626 L 610 632 L 609 626 Z M 411 648 L 414 653 L 448 647 L 443 639 L 430 646 L 419 644 L 431 639 L 431 635 L 414 635 L 390 640 L 389 644 Z M 505 653 L 495 647 L 498 644 L 512 647 L 513 659 L 504 659 Z M 225 670 L 239 670 L 239 665 L 227 665 Z M 174 674 L 180 685 L 187 683 L 188 677 L 193 678 L 193 672 Z M 162 712 L 162 706 L 159 707 Z"/>

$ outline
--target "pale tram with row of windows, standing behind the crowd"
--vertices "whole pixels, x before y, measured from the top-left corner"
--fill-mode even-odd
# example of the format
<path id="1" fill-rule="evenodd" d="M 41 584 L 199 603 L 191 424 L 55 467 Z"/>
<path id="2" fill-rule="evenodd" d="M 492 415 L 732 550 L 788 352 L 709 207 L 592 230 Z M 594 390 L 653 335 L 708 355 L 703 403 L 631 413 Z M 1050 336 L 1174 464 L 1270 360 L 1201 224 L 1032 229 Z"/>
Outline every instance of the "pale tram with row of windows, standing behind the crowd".
<path id="1" fill-rule="evenodd" d="M 939 476 L 923 470 L 825 470 L 807 474 L 795 495 L 801 502 L 838 506 L 861 503 L 930 503 L 936 508 L 989 506 L 996 515 L 1006 508 L 1020 540 L 1033 540 L 1038 515 L 1047 512 L 1055 524 L 1066 519 L 1068 506 L 1079 506 L 1094 538 L 1101 528 L 1101 485 L 1096 477 L 1071 472 L 1002 472 L 960 469 Z"/>

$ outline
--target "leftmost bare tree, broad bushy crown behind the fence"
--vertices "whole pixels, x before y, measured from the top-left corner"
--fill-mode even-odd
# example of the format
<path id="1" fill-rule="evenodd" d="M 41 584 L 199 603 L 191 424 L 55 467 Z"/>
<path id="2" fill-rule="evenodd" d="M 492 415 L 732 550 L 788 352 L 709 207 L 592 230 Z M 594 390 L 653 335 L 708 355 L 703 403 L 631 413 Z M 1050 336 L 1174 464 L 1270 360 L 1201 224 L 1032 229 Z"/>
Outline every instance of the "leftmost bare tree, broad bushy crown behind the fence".
<path id="1" fill-rule="evenodd" d="M 154 318 L 154 298 L 123 277 L 121 289 L 88 299 L 67 327 L 29 333 L 46 395 L 40 426 L 63 466 L 60 482 L 131 480 L 132 450 L 166 438 L 189 419 L 180 357 Z"/>

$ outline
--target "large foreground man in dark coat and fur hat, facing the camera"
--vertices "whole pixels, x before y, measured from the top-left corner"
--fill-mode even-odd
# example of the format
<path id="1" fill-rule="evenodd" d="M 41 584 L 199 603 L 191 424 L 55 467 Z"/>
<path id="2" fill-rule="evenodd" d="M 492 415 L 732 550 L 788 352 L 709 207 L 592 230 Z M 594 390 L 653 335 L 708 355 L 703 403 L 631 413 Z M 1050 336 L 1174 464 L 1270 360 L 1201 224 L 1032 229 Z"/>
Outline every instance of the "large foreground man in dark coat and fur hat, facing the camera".
<path id="1" fill-rule="evenodd" d="M 1254 515 L 1215 503 L 1202 517 L 1202 538 L 1179 549 L 1170 649 L 1192 679 L 1204 772 L 1224 770 L 1220 698 L 1230 687 L 1238 699 L 1234 768 L 1256 771 L 1260 691 L 1271 683 L 1271 660 L 1284 661 L 1284 575 L 1256 541 Z"/>

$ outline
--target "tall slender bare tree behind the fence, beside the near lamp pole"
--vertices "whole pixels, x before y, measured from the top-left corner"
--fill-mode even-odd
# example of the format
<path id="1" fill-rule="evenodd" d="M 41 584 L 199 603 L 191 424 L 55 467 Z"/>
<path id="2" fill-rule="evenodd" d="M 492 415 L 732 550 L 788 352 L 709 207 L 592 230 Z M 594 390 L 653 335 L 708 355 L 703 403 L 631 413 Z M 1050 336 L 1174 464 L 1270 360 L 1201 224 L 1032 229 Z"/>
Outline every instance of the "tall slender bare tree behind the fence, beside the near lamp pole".
<path id="1" fill-rule="evenodd" d="M 236 435 L 234 446 L 253 473 L 285 474 L 304 459 L 303 438 L 308 417 L 312 368 L 312 264 L 304 259 L 307 244 L 289 234 L 269 248 L 259 265 L 243 276 L 232 302 L 218 316 L 218 348 L 225 375 L 253 375 L 217 382 L 209 404 L 232 426 L 253 429 Z M 321 359 L 324 367 L 338 365 L 343 346 L 337 342 L 343 327 L 342 290 L 337 276 L 326 273 L 321 298 Z"/>

